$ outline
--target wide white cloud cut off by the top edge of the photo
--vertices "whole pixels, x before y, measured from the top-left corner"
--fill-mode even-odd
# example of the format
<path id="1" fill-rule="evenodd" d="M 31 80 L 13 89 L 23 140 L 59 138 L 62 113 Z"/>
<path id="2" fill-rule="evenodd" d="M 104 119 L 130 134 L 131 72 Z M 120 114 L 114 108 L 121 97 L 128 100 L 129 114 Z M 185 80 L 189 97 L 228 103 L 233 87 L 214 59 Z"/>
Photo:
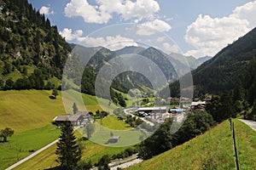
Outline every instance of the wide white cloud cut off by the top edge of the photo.
<path id="1" fill-rule="evenodd" d="M 103 24 L 118 14 L 122 20 L 143 20 L 153 17 L 160 10 L 154 0 L 95 0 L 91 5 L 87 0 L 71 0 L 64 13 L 67 17 L 81 16 L 86 23 Z"/>

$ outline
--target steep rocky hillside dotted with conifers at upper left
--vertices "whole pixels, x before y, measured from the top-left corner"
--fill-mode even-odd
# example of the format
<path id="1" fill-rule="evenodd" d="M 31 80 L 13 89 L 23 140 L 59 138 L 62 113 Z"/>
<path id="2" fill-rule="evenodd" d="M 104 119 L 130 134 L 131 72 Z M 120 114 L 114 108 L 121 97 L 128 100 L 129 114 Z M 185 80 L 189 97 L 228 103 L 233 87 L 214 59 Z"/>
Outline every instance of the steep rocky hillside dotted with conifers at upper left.
<path id="1" fill-rule="evenodd" d="M 27 0 L 0 1 L 0 89 L 58 88 L 71 51 Z"/>

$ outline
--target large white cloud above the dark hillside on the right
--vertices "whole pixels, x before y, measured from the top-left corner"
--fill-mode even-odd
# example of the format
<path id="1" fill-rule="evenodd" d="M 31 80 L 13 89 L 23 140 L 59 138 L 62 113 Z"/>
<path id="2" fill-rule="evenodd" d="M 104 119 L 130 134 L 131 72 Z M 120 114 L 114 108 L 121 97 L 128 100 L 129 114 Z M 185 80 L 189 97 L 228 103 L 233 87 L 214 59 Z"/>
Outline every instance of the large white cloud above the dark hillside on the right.
<path id="1" fill-rule="evenodd" d="M 186 55 L 202 57 L 217 54 L 229 43 L 250 31 L 256 25 L 256 2 L 246 3 L 233 10 L 232 14 L 222 18 L 212 18 L 200 14 L 187 27 L 185 41 L 196 49 Z"/>

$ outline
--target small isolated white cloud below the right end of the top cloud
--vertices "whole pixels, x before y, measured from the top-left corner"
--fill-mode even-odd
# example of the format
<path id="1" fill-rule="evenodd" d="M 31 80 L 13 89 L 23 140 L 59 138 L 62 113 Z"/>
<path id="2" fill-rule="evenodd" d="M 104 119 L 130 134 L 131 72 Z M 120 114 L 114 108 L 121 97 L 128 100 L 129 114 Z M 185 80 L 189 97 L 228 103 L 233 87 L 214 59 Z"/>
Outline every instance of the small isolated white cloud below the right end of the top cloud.
<path id="1" fill-rule="evenodd" d="M 155 31 L 170 31 L 172 26 L 167 24 L 164 20 L 154 19 L 151 21 L 144 22 L 137 26 L 137 35 L 150 36 L 155 33 Z"/>

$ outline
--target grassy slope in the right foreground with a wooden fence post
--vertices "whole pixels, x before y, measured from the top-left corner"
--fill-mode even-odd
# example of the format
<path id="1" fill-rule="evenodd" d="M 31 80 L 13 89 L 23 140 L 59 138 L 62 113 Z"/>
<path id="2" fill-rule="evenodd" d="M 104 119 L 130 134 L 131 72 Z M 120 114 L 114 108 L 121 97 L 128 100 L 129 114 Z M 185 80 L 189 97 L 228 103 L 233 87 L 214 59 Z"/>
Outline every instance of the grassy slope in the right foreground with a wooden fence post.
<path id="1" fill-rule="evenodd" d="M 240 169 L 256 167 L 256 132 L 234 120 Z M 230 122 L 128 169 L 236 169 Z"/>

